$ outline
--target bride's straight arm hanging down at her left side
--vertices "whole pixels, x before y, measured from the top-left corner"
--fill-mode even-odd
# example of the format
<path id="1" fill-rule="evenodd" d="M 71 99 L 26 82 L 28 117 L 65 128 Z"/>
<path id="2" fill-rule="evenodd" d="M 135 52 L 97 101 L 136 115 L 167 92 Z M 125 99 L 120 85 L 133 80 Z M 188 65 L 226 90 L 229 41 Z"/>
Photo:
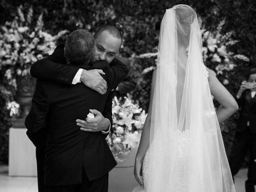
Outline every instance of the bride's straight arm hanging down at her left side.
<path id="1" fill-rule="evenodd" d="M 144 127 L 142 130 L 141 138 L 140 138 L 140 145 L 136 154 L 135 158 L 135 165 L 134 165 L 134 176 L 137 182 L 142 186 L 142 178 L 140 175 L 140 169 L 142 165 L 142 158 L 144 157 L 146 151 L 149 147 L 149 138 L 150 138 L 150 123 L 151 123 L 151 114 L 152 114 L 152 100 L 154 96 L 154 89 L 156 84 L 156 70 L 154 70 L 152 75 L 152 82 L 151 82 L 151 91 L 150 91 L 150 101 L 148 107 L 148 115 L 146 117 Z"/>

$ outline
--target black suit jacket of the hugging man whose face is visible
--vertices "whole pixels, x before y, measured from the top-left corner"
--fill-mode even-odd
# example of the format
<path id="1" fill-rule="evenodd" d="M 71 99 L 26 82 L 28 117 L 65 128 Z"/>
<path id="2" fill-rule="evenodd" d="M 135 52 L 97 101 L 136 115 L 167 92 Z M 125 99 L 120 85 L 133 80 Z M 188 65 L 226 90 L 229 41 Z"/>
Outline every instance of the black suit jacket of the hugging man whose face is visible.
<path id="1" fill-rule="evenodd" d="M 34 78 L 38 78 L 41 80 L 50 80 L 53 82 L 59 82 L 62 84 L 72 85 L 72 80 L 74 76 L 78 72 L 78 66 L 67 66 L 66 59 L 64 57 L 64 46 L 57 46 L 54 50 L 53 54 L 38 60 L 35 62 L 30 69 L 30 74 Z M 114 60 L 110 63 L 110 71 L 114 77 L 114 82 L 112 84 L 112 88 L 115 89 L 120 82 L 126 77 L 128 73 L 128 69 L 125 64 L 120 62 L 120 60 L 114 58 Z M 105 108 L 103 110 L 102 115 L 105 118 L 110 120 L 110 124 L 112 126 L 112 98 L 114 92 L 110 92 Z"/>

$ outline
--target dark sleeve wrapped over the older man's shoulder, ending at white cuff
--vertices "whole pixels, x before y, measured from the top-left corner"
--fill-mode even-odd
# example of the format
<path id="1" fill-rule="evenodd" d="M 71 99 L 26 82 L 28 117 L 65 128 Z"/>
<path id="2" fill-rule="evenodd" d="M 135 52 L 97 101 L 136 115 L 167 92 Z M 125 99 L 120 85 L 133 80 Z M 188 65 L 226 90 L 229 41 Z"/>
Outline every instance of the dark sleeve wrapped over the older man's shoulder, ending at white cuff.
<path id="1" fill-rule="evenodd" d="M 58 46 L 48 57 L 35 62 L 30 69 L 30 74 L 34 78 L 50 80 L 54 82 L 70 84 L 78 72 L 75 66 L 66 66 L 64 57 L 64 46 Z"/>

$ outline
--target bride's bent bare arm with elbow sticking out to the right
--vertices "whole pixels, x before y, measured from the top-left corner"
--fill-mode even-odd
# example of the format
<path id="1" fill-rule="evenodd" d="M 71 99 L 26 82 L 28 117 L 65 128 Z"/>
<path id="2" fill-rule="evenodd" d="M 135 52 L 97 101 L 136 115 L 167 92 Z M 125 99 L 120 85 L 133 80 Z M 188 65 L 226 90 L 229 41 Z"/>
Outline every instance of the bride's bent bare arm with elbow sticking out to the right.
<path id="1" fill-rule="evenodd" d="M 211 70 L 209 72 L 209 85 L 211 94 L 221 104 L 221 107 L 216 110 L 218 122 L 221 123 L 229 118 L 238 110 L 238 104 L 228 90 L 219 82 Z"/>

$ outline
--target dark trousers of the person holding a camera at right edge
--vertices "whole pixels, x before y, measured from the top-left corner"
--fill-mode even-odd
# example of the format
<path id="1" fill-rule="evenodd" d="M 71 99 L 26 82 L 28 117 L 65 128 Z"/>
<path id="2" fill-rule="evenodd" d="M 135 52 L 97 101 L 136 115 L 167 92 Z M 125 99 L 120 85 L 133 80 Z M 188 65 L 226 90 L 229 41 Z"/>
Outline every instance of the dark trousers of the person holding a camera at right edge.
<path id="1" fill-rule="evenodd" d="M 256 134 L 250 132 L 249 127 L 244 132 L 237 132 L 232 146 L 229 164 L 232 177 L 236 175 L 242 166 L 246 153 L 250 152 L 248 166 L 248 180 L 245 182 L 246 192 L 255 192 L 256 185 Z M 234 180 L 234 178 L 233 178 Z"/>

